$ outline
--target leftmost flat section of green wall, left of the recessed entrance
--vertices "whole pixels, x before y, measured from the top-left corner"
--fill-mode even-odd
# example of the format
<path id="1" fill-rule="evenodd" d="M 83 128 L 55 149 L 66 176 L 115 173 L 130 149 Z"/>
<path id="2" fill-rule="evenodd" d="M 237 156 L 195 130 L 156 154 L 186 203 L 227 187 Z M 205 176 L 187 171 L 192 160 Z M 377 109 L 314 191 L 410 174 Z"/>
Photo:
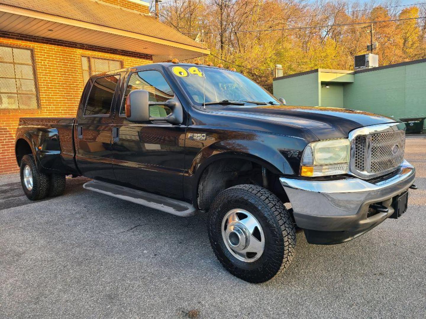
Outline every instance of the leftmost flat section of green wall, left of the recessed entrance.
<path id="1" fill-rule="evenodd" d="M 318 72 L 273 81 L 273 93 L 284 98 L 287 105 L 319 105 Z"/>

